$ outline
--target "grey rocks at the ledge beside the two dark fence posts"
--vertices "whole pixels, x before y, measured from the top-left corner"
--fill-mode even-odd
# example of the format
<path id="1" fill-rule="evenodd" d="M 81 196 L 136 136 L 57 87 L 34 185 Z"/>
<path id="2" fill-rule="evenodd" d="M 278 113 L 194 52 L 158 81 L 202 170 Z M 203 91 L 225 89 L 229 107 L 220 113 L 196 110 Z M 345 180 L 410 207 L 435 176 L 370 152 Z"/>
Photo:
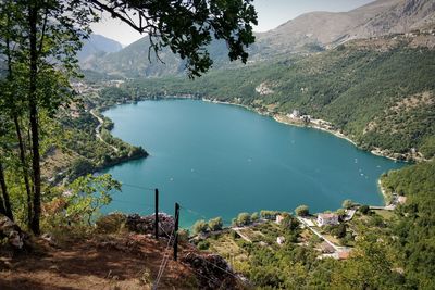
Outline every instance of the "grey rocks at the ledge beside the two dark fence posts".
<path id="1" fill-rule="evenodd" d="M 125 225 L 130 231 L 152 235 L 154 232 L 154 215 L 140 216 L 132 214 L 127 216 Z M 165 213 L 159 213 L 159 236 L 167 238 L 173 232 L 174 226 L 174 217 Z"/>

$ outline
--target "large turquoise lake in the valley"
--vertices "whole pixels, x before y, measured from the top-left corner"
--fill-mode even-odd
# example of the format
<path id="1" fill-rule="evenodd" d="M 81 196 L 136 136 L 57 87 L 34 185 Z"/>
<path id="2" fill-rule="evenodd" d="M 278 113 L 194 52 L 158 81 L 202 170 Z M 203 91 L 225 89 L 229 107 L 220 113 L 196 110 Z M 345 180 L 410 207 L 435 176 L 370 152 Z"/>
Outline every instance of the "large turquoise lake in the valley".
<path id="1" fill-rule="evenodd" d="M 195 100 L 144 101 L 104 112 L 112 134 L 150 156 L 108 169 L 123 186 L 104 212 L 148 214 L 159 188 L 161 211 L 183 209 L 184 227 L 240 212 L 321 212 L 343 200 L 382 205 L 382 173 L 405 164 L 361 151 L 331 134 L 287 126 L 239 106 Z"/>

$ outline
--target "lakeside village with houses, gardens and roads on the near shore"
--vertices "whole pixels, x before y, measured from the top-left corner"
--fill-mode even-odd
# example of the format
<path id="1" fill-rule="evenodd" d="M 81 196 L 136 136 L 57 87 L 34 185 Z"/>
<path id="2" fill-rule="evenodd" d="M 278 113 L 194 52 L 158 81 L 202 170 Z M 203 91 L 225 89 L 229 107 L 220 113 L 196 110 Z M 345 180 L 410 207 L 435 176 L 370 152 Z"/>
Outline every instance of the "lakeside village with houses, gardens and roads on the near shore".
<path id="1" fill-rule="evenodd" d="M 241 239 L 244 242 L 263 247 L 282 247 L 286 242 L 293 242 L 301 247 L 312 247 L 319 252 L 318 259 L 346 260 L 350 256 L 355 241 L 360 235 L 356 224 L 366 223 L 372 218 L 376 222 L 370 223 L 380 226 L 383 219 L 391 218 L 394 210 L 405 204 L 407 198 L 393 193 L 389 200 L 385 206 L 361 205 L 345 200 L 343 209 L 319 214 L 310 214 L 307 205 L 298 206 L 295 210 L 296 215 L 278 211 L 261 211 L 260 214 L 240 213 L 228 227 L 223 226 L 221 217 L 210 219 L 208 223 L 198 220 L 192 226 L 195 235 L 189 240 L 200 250 L 212 249 L 225 257 L 228 257 L 228 249 L 234 248 L 234 244 L 231 244 Z M 288 241 L 287 239 L 294 239 L 293 236 L 288 238 L 288 234 L 296 228 L 300 232 L 299 237 Z"/>

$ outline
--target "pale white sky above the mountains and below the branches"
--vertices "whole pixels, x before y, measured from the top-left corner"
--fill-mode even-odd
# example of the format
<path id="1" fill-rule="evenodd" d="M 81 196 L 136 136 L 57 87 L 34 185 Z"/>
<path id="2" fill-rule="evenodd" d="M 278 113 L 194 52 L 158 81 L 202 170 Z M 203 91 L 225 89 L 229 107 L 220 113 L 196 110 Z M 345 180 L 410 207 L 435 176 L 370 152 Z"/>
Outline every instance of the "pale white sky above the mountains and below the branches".
<path id="1" fill-rule="evenodd" d="M 266 31 L 312 11 L 344 12 L 373 2 L 373 0 L 254 0 L 259 25 L 256 31 Z M 103 35 L 127 46 L 144 37 L 121 21 L 102 15 L 100 23 L 92 24 L 95 34 Z"/>

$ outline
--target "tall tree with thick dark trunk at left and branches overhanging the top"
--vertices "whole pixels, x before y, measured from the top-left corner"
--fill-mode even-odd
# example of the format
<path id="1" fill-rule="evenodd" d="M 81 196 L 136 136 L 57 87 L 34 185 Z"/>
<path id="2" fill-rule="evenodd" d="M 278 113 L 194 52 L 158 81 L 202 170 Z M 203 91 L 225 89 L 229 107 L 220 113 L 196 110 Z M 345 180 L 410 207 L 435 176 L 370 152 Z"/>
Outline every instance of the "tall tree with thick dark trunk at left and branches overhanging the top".
<path id="1" fill-rule="evenodd" d="M 16 47 L 13 54 L 8 54 L 10 46 L 1 46 L 0 54 L 13 55 L 14 63 L 24 65 L 21 77 L 25 79 L 27 92 L 17 108 L 27 108 L 32 149 L 32 188 L 28 189 L 32 214 L 28 215 L 36 235 L 40 232 L 41 213 L 40 114 L 53 116 L 67 102 L 66 97 L 73 96 L 69 78 L 77 76 L 76 52 L 82 47 L 80 40 L 90 33 L 89 23 L 98 21 L 98 12 L 109 12 L 112 17 L 147 34 L 151 43 L 149 51 L 157 56 L 164 47 L 178 53 L 186 60 L 189 77 L 200 76 L 211 67 L 207 46 L 212 39 L 226 41 L 231 61 L 240 59 L 246 63 L 246 48 L 254 41 L 252 25 L 257 24 L 250 0 L 28 0 L 2 1 L 0 10 L 2 16 L 14 21 L 13 26 L 8 26 L 14 33 L 0 29 L 0 37 Z"/>

